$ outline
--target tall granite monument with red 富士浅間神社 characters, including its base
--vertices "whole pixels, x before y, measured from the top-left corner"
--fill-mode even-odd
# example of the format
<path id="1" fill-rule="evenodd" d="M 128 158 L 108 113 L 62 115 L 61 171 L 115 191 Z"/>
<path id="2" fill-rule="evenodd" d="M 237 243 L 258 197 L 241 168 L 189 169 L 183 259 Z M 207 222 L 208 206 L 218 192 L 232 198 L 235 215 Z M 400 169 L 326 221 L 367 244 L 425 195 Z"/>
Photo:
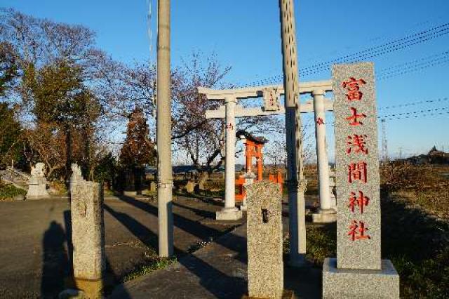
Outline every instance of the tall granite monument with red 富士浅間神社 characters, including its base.
<path id="1" fill-rule="evenodd" d="M 399 277 L 381 260 L 374 65 L 333 67 L 337 258 L 323 264 L 323 298 L 399 298 Z"/>

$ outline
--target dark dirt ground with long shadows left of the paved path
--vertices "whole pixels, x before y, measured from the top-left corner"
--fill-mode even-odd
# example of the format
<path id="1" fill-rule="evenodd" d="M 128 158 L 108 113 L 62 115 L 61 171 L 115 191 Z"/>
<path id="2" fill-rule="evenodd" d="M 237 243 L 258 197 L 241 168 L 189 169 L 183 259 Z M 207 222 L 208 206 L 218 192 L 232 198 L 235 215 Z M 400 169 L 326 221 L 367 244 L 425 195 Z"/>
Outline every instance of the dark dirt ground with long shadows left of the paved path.
<path id="1" fill-rule="evenodd" d="M 177 255 L 192 251 L 241 222 L 215 222 L 222 204 L 176 197 L 173 201 Z M 0 202 L 0 298 L 54 298 L 71 272 L 67 239 L 69 201 Z M 243 221 L 243 220 L 242 220 Z M 120 281 L 157 248 L 157 203 L 133 197 L 105 199 L 107 272 Z"/>

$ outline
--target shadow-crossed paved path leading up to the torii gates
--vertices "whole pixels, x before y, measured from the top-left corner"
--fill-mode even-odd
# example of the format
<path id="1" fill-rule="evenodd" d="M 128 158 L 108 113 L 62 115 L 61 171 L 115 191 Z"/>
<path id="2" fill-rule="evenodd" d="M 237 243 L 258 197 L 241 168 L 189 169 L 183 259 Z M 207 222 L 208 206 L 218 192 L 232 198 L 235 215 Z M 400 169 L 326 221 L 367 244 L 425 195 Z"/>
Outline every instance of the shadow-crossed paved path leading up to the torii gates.
<path id="1" fill-rule="evenodd" d="M 110 298 L 240 299 L 248 291 L 246 264 L 246 225 L 242 225 L 170 267 L 117 287 Z M 321 298 L 321 269 L 285 267 L 284 284 L 297 298 Z"/>

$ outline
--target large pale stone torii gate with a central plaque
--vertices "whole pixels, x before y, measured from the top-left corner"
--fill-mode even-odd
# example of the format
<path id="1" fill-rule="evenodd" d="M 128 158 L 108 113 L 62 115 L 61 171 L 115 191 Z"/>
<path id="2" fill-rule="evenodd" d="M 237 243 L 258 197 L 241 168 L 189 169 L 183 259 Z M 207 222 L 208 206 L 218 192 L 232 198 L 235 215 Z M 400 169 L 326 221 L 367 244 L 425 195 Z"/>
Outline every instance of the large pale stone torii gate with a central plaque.
<path id="1" fill-rule="evenodd" d="M 256 117 L 285 114 L 279 103 L 284 94 L 282 85 L 256 86 L 216 90 L 199 87 L 200 94 L 208 100 L 225 100 L 225 106 L 216 110 L 207 110 L 206 119 L 226 119 L 225 142 L 225 208 L 217 211 L 217 220 L 235 220 L 241 218 L 242 212 L 235 206 L 235 143 L 236 117 Z M 314 100 L 307 100 L 300 105 L 301 113 L 315 111 L 316 148 L 319 159 L 320 213 L 332 213 L 330 202 L 328 156 L 326 154 L 326 111 L 333 111 L 333 101 L 324 98 L 326 91 L 332 91 L 332 81 L 311 81 L 300 83 L 300 94 L 311 94 Z M 264 107 L 245 108 L 237 105 L 237 100 L 264 98 Z"/>

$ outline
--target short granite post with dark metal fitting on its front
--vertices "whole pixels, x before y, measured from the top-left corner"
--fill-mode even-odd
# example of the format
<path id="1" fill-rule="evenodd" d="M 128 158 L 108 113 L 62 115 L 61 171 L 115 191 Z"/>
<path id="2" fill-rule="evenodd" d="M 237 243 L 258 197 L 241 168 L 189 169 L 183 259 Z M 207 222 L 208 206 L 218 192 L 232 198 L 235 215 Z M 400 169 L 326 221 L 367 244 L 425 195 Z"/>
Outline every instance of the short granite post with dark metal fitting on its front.
<path id="1" fill-rule="evenodd" d="M 248 295 L 249 298 L 282 298 L 281 191 L 274 182 L 247 187 Z"/>

